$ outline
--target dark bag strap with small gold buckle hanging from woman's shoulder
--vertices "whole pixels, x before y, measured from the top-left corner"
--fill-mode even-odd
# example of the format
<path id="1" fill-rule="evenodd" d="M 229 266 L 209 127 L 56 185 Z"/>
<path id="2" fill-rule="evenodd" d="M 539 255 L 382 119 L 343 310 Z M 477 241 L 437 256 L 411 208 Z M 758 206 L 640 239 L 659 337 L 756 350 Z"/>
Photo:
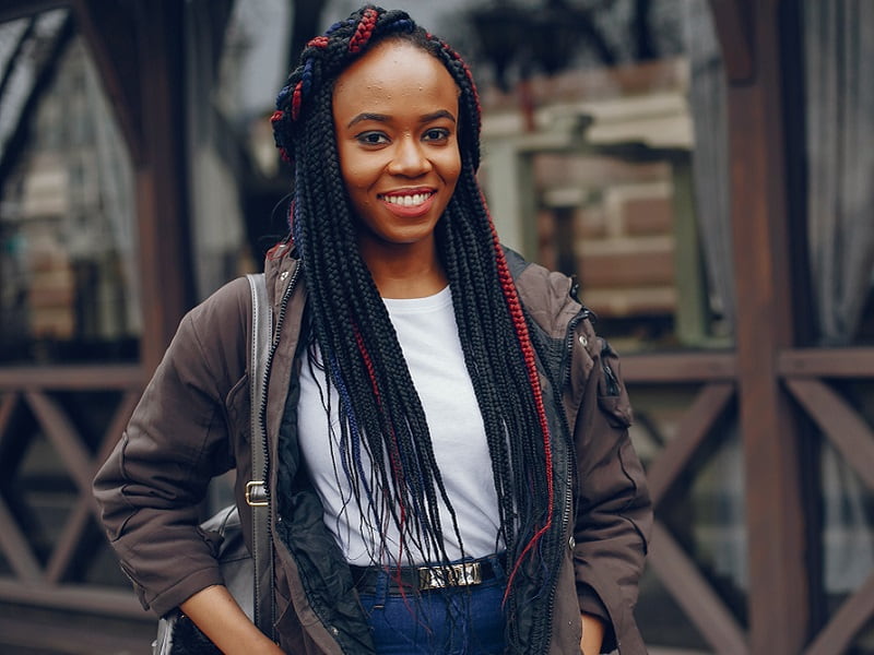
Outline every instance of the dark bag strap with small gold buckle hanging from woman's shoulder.
<path id="1" fill-rule="evenodd" d="M 272 320 L 263 274 L 246 276 L 252 295 L 252 342 L 249 393 L 251 403 L 252 479 L 246 485 L 246 502 L 252 511 L 252 560 L 255 563 L 255 624 L 273 635 L 273 543 L 270 538 L 270 505 L 267 496 L 267 362 Z"/>

